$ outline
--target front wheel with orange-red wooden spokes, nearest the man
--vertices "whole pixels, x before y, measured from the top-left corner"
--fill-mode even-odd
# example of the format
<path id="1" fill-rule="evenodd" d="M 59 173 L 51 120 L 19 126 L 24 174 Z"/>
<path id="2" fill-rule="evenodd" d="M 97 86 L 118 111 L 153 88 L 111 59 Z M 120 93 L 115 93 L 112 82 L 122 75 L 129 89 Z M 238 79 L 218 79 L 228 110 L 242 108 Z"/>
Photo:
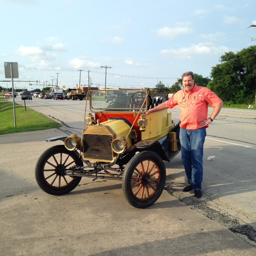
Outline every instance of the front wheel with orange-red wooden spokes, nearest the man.
<path id="1" fill-rule="evenodd" d="M 136 208 L 146 208 L 158 200 L 165 181 L 166 169 L 162 158 L 155 152 L 144 151 L 128 162 L 124 170 L 122 189 L 129 204 Z"/>

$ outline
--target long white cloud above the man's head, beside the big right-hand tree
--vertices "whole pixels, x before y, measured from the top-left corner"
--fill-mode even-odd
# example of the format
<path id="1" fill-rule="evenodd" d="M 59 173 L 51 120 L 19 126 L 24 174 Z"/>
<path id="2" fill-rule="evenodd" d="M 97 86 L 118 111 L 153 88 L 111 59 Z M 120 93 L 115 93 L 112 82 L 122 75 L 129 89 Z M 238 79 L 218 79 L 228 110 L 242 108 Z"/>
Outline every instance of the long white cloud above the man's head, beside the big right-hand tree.
<path id="1" fill-rule="evenodd" d="M 169 55 L 170 57 L 182 58 L 182 59 L 192 59 L 195 55 L 209 55 L 209 54 L 223 54 L 228 52 L 228 48 L 225 46 L 216 47 L 210 43 L 200 43 L 197 45 L 192 45 L 186 48 L 180 48 L 178 50 L 162 50 L 160 53 L 163 55 Z"/>

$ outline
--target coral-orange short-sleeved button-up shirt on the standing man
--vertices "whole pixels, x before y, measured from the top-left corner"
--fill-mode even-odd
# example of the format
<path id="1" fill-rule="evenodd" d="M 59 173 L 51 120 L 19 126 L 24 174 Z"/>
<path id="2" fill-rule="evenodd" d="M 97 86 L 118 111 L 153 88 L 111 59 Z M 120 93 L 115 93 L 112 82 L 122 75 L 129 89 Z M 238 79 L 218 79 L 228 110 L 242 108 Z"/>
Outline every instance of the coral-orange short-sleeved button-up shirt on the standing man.
<path id="1" fill-rule="evenodd" d="M 165 104 L 168 108 L 179 105 L 180 128 L 197 130 L 203 127 L 200 122 L 208 116 L 208 104 L 215 108 L 221 102 L 222 100 L 210 89 L 194 84 L 191 92 L 182 89 Z"/>

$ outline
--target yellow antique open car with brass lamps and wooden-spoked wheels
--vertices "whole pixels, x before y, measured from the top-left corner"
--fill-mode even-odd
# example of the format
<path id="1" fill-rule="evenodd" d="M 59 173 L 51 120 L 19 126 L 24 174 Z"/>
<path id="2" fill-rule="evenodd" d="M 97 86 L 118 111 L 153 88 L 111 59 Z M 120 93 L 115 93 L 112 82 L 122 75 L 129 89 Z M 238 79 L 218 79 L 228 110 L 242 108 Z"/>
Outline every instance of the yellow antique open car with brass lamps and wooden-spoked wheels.
<path id="1" fill-rule="evenodd" d="M 98 91 L 88 92 L 94 115 L 85 114 L 81 137 L 72 134 L 46 140 L 62 140 L 64 145 L 53 146 L 40 156 L 35 170 L 38 185 L 59 196 L 73 190 L 82 177 L 122 179 L 124 196 L 132 206 L 154 204 L 166 181 L 164 161 L 180 151 L 180 128 L 167 109 L 143 113 L 168 96 L 150 96 L 147 88 L 124 90 L 123 96 L 108 104 Z"/>

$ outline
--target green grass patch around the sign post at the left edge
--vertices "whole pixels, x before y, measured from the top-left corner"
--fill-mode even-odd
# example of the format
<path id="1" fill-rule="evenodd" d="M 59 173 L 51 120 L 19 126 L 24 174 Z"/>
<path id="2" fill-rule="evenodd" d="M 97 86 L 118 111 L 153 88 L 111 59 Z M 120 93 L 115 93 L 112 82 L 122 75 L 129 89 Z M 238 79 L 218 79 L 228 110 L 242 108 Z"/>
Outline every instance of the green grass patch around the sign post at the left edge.
<path id="1" fill-rule="evenodd" d="M 60 128 L 61 124 L 30 108 L 15 104 L 16 127 L 12 102 L 0 100 L 0 135 Z"/>

